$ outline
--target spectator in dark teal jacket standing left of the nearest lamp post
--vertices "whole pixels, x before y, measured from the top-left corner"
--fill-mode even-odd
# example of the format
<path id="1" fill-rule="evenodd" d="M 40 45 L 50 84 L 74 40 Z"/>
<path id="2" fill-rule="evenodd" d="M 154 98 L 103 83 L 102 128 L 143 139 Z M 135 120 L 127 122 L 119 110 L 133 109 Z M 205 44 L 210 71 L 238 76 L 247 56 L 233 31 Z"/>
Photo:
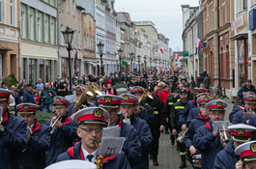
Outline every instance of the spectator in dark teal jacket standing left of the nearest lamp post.
<path id="1" fill-rule="evenodd" d="M 45 83 L 44 90 L 42 91 L 40 98 L 43 99 L 43 110 L 47 111 L 48 113 L 51 113 L 52 111 L 52 102 L 54 97 L 54 91 L 49 89 L 49 83 Z"/>

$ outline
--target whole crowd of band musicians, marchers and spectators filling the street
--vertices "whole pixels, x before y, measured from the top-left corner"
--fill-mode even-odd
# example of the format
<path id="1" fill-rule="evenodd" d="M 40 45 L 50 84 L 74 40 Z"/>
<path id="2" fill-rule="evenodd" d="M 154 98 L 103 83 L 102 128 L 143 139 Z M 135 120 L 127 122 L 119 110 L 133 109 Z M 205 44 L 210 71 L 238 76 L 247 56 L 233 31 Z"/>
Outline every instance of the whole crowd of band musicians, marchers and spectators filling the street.
<path id="1" fill-rule="evenodd" d="M 229 126 L 227 103 L 211 94 L 210 81 L 206 72 L 194 86 L 183 71 L 148 70 L 45 83 L 39 78 L 36 84 L 23 79 L 10 90 L 2 84 L 0 168 L 41 169 L 79 159 L 104 169 L 149 169 L 150 159 L 158 165 L 161 132 L 179 151 L 180 168 L 187 162 L 195 169 L 256 168 L 255 87 L 248 79 L 241 88 Z M 127 93 L 120 95 L 115 84 L 124 84 Z M 54 116 L 40 124 L 39 110 Z M 119 137 L 122 151 L 100 154 L 101 140 Z"/>

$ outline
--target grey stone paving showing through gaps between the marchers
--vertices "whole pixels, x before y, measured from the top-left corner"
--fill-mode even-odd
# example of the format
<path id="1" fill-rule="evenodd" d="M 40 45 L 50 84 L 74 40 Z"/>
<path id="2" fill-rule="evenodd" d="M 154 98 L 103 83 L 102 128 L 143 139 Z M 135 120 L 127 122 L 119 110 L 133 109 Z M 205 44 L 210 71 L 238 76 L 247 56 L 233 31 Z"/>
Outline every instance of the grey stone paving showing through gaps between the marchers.
<path id="1" fill-rule="evenodd" d="M 228 121 L 228 117 L 233 108 L 231 99 L 224 99 L 228 103 L 226 108 L 225 120 Z M 150 159 L 150 169 L 179 169 L 181 164 L 181 156 L 176 151 L 176 146 L 171 145 L 170 135 L 161 133 L 159 140 L 159 153 L 158 153 L 158 166 L 154 166 L 152 159 Z M 192 169 L 192 165 L 186 160 L 186 169 Z"/>

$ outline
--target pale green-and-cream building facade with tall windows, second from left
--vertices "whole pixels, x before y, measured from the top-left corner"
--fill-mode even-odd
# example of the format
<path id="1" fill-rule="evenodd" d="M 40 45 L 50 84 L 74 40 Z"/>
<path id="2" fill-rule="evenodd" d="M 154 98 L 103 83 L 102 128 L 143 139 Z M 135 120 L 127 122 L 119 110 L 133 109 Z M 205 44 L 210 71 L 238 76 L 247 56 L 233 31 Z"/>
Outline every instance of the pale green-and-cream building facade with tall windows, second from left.
<path id="1" fill-rule="evenodd" d="M 20 77 L 54 80 L 58 72 L 57 1 L 20 0 Z"/>

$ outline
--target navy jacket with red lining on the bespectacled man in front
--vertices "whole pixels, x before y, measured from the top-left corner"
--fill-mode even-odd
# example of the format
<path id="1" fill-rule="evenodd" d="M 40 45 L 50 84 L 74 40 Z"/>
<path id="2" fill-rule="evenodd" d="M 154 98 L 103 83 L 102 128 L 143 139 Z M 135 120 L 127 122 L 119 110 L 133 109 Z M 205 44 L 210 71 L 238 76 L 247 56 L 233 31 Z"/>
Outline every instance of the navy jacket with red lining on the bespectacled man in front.
<path id="1" fill-rule="evenodd" d="M 85 156 L 83 156 L 83 154 L 80 151 L 81 151 L 81 142 L 71 147 L 66 153 L 59 155 L 56 161 L 63 161 L 63 160 L 69 160 L 69 159 L 83 160 Z M 130 169 L 128 158 L 124 152 L 121 152 L 119 155 L 116 155 L 115 158 L 109 159 L 108 162 L 104 163 L 103 169 Z"/>

